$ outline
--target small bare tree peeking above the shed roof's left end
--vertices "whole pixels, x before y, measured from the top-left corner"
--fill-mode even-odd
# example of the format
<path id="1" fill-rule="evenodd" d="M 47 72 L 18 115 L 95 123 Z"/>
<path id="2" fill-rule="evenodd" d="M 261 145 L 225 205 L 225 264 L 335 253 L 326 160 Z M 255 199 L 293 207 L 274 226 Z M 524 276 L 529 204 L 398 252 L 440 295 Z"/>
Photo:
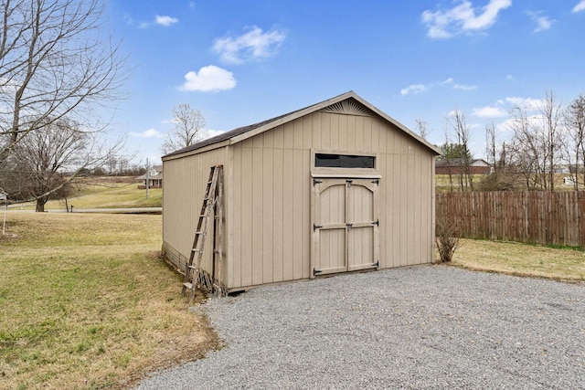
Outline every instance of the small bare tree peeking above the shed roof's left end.
<path id="1" fill-rule="evenodd" d="M 168 154 L 190 146 L 206 136 L 205 117 L 199 110 L 191 108 L 189 103 L 173 107 L 175 129 L 165 134 L 161 152 Z"/>

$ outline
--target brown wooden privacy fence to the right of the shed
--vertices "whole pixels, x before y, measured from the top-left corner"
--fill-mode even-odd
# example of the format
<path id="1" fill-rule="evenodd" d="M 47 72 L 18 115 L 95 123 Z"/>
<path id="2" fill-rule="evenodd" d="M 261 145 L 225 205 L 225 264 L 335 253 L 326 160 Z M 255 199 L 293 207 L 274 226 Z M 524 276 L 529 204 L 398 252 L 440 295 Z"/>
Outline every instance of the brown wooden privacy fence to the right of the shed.
<path id="1" fill-rule="evenodd" d="M 585 247 L 585 192 L 438 193 L 437 221 L 462 237 Z"/>

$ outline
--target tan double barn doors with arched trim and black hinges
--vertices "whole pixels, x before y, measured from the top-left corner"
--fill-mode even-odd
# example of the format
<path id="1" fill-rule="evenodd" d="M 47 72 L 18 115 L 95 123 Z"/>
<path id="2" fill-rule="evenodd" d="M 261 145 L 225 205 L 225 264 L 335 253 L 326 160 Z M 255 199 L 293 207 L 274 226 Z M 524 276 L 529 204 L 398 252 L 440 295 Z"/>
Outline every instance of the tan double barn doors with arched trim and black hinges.
<path id="1" fill-rule="evenodd" d="M 378 267 L 378 183 L 314 179 L 314 276 Z"/>

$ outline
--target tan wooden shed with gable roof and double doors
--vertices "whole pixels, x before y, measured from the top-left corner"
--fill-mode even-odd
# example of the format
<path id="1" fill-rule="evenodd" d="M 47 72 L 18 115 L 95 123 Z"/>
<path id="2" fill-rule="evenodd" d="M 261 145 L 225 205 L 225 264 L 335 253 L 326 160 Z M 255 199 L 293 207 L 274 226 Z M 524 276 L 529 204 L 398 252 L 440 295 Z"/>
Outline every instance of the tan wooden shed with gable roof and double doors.
<path id="1" fill-rule="evenodd" d="M 163 251 L 185 270 L 221 164 L 225 290 L 434 259 L 439 150 L 349 91 L 163 157 Z"/>

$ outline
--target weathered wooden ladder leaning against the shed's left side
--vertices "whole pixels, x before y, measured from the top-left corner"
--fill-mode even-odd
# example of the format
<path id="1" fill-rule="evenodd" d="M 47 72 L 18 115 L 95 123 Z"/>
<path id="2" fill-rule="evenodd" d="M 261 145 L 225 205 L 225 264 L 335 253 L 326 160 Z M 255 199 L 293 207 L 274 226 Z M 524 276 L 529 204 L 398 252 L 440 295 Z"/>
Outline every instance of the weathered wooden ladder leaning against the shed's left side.
<path id="1" fill-rule="evenodd" d="M 212 166 L 209 171 L 209 178 L 207 179 L 207 188 L 203 198 L 203 205 L 199 213 L 199 221 L 197 222 L 197 229 L 195 231 L 195 238 L 193 240 L 193 247 L 191 255 L 185 267 L 185 279 L 183 279 L 182 295 L 185 296 L 186 290 L 190 290 L 189 302 L 195 299 L 195 291 L 200 286 L 201 274 L 201 260 L 203 259 L 203 252 L 205 248 L 205 241 L 207 237 L 207 228 L 209 227 L 209 219 L 211 212 L 214 211 L 215 230 L 214 230 L 214 248 L 213 258 L 217 259 L 218 268 L 216 269 L 216 282 L 212 281 L 212 288 L 218 291 L 218 296 L 221 297 L 222 289 L 220 282 L 221 262 L 223 257 L 222 252 L 222 219 L 223 219 L 223 165 Z M 197 260 L 196 260 L 197 253 Z M 194 260 L 195 264 L 194 264 Z M 215 264 L 215 261 L 214 261 Z"/>

